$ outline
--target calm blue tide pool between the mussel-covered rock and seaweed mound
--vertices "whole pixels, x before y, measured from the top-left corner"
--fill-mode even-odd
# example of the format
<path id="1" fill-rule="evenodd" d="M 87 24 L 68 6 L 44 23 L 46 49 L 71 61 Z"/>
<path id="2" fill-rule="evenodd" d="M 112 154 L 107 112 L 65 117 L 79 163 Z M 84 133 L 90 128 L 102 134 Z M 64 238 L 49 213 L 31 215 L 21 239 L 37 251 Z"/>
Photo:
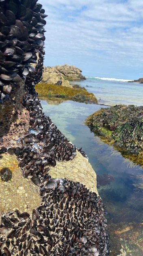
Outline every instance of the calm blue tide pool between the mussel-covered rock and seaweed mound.
<path id="1" fill-rule="evenodd" d="M 135 95 L 134 98 L 136 98 Z M 126 104 L 127 101 L 128 98 L 126 98 Z M 76 147 L 82 147 L 82 150 L 87 153 L 93 169 L 97 175 L 100 175 L 98 191 L 108 212 L 106 218 L 112 243 L 110 255 L 120 255 L 119 249 L 122 245 L 123 251 L 126 248 L 127 252 L 123 255 L 142 256 L 143 250 L 138 243 L 139 235 L 143 241 L 143 169 L 139 165 L 134 165 L 129 159 L 125 159 L 102 139 L 94 136 L 93 132 L 90 132 L 90 129 L 84 124 L 89 115 L 101 107 L 106 108 L 106 106 L 74 101 L 56 102 L 56 105 L 52 101 L 51 105 L 48 99 L 41 100 L 41 104 L 45 115 L 50 116 L 58 129 Z M 135 104 L 135 102 L 131 104 Z M 131 231 L 126 231 L 126 227 Z M 120 230 L 121 234 L 116 233 L 115 230 Z M 130 232 L 134 234 L 132 245 L 130 245 Z"/>

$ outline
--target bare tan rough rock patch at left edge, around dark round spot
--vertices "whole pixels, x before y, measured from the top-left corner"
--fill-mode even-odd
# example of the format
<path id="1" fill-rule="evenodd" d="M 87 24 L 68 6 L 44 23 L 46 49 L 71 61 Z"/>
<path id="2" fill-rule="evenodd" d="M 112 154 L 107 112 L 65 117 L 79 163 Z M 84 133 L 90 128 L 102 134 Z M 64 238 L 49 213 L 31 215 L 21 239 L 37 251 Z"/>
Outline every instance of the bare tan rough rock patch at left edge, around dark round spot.
<path id="1" fill-rule="evenodd" d="M 41 204 L 39 188 L 30 179 L 24 178 L 18 166 L 16 155 L 2 154 L 0 169 L 7 167 L 12 171 L 12 179 L 4 182 L 0 178 L 0 217 L 2 213 L 15 211 L 32 213 Z"/>

